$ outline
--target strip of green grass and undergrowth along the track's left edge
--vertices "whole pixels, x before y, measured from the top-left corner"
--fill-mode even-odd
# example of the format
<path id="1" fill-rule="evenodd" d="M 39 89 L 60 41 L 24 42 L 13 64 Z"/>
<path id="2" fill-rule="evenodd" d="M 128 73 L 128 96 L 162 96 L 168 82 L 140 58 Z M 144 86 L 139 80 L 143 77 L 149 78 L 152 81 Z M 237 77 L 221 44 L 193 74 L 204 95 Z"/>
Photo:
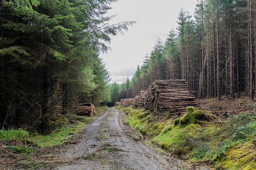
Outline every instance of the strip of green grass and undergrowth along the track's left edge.
<path id="1" fill-rule="evenodd" d="M 97 115 L 104 113 L 106 108 L 99 108 Z M 96 119 L 98 116 L 85 117 L 74 114 L 63 115 L 65 124 L 52 130 L 48 134 L 31 133 L 24 129 L 2 129 L 0 130 L 0 148 L 8 152 L 14 152 L 16 155 L 16 164 L 25 169 L 38 169 L 47 167 L 49 161 L 38 161 L 40 157 L 39 148 L 48 148 L 55 145 L 63 145 L 65 142 L 72 140 L 73 137 L 62 140 L 70 135 L 78 134 L 86 126 L 86 122 Z M 26 129 L 26 128 L 25 128 Z M 36 155 L 36 156 L 35 156 Z M 2 156 L 2 155 L 0 155 Z M 44 156 L 44 155 L 43 155 Z M 0 160 L 4 163 L 3 160 Z M 0 169 L 2 166 L 0 165 Z"/>

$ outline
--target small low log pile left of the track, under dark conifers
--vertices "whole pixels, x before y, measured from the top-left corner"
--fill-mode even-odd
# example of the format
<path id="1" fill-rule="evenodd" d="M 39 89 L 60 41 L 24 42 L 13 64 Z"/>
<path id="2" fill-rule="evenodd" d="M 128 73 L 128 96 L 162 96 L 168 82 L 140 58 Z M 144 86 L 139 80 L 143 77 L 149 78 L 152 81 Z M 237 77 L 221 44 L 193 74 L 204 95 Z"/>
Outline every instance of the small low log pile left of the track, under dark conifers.
<path id="1" fill-rule="evenodd" d="M 75 109 L 76 115 L 93 116 L 97 114 L 97 108 L 92 103 L 73 104 L 72 108 Z"/>

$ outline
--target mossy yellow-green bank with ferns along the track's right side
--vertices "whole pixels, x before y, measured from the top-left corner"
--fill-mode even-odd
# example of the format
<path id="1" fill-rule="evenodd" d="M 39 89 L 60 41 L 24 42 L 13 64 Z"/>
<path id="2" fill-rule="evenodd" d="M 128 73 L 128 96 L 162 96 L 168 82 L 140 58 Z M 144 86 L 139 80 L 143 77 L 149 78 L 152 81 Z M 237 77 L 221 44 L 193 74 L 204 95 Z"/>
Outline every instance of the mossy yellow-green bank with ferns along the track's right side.
<path id="1" fill-rule="evenodd" d="M 188 107 L 182 117 L 122 108 L 127 122 L 166 152 L 191 162 L 204 161 L 220 170 L 256 169 L 255 112 L 230 116 L 227 121 L 206 110 Z"/>

